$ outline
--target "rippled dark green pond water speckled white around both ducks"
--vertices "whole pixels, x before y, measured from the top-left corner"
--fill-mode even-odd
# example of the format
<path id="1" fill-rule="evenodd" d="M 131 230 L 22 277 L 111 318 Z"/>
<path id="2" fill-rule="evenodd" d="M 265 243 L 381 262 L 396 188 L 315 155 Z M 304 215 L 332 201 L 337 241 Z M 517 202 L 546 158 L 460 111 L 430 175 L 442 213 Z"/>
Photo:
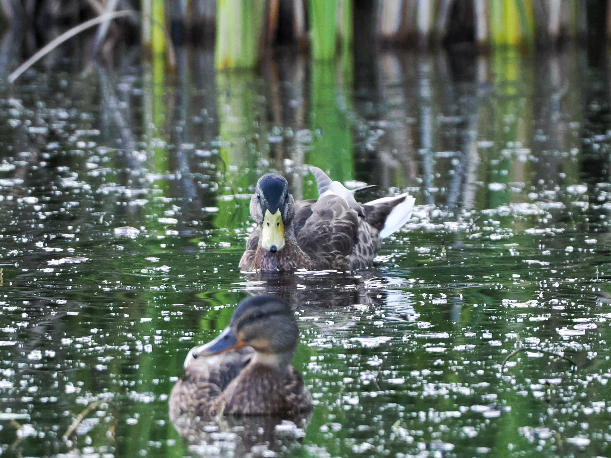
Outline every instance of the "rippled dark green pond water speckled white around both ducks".
<path id="1" fill-rule="evenodd" d="M 2 456 L 609 454 L 606 62 L 370 59 L 214 75 L 178 49 L 175 76 L 0 90 Z M 242 274 L 257 177 L 314 197 L 304 164 L 414 217 L 368 271 Z M 185 440 L 183 359 L 257 291 L 295 307 L 312 417 Z"/>

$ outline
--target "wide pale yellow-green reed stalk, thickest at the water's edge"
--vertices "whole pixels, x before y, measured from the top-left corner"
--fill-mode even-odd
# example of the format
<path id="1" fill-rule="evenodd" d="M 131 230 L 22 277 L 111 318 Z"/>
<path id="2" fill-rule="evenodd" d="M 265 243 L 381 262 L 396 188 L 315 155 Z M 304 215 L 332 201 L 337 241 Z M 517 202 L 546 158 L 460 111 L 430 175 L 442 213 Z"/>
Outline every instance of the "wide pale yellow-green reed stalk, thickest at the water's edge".
<path id="1" fill-rule="evenodd" d="M 261 56 L 265 2 L 219 0 L 216 4 L 214 66 L 254 68 Z"/>

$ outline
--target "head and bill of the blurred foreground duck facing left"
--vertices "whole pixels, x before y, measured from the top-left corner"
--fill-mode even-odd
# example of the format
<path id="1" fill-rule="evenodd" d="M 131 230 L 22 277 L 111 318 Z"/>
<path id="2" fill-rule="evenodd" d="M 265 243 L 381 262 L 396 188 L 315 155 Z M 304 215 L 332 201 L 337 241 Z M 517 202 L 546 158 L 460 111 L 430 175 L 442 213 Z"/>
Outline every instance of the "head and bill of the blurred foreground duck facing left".
<path id="1" fill-rule="evenodd" d="M 288 365 L 299 339 L 295 314 L 279 297 L 271 294 L 244 299 L 229 326 L 205 345 L 191 349 L 185 367 L 198 357 L 218 355 L 251 346 L 260 362 L 271 366 Z"/>

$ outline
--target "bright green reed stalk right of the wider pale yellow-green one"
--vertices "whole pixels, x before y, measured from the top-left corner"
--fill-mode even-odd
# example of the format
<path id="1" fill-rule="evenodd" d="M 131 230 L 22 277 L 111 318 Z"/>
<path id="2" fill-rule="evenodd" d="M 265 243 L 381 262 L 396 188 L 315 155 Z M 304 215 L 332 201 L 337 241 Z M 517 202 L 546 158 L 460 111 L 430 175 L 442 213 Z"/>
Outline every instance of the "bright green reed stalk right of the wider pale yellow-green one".
<path id="1" fill-rule="evenodd" d="M 337 0 L 310 0 L 311 54 L 314 60 L 335 57 Z"/>

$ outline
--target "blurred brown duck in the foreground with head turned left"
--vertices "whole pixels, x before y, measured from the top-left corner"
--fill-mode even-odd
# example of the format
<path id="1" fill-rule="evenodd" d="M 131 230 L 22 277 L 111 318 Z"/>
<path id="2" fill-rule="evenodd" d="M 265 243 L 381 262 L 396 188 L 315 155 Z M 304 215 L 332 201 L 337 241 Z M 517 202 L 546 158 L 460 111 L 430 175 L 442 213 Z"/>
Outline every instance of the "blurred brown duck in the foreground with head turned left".
<path id="1" fill-rule="evenodd" d="M 312 398 L 291 366 L 299 328 L 288 305 L 261 294 L 243 300 L 228 327 L 185 359 L 169 400 L 170 419 L 218 415 L 291 418 L 312 410 Z"/>

